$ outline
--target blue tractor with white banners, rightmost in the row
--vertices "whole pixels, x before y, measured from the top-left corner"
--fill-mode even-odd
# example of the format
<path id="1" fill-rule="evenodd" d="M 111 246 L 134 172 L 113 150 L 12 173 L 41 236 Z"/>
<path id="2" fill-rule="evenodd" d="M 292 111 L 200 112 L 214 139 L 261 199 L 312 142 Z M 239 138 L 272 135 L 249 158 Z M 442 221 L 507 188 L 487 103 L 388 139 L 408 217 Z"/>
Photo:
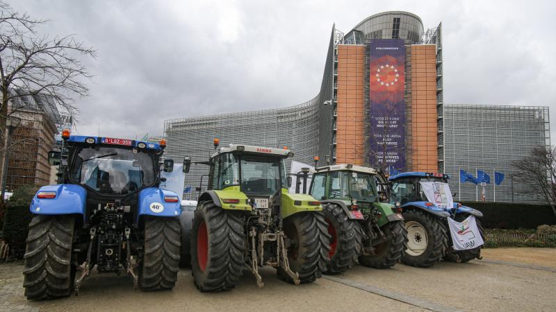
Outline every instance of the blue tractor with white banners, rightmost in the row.
<path id="1" fill-rule="evenodd" d="M 407 228 L 407 250 L 402 263 L 426 268 L 441 260 L 467 262 L 480 259 L 481 245 L 468 245 L 465 250 L 456 250 L 453 245 L 450 220 L 468 222 L 469 216 L 475 216 L 477 235 L 482 240 L 478 220 L 482 213 L 453 202 L 455 194 L 450 193 L 448 178 L 443 173 L 425 172 L 406 172 L 389 177 L 391 202 L 400 203 Z"/>

